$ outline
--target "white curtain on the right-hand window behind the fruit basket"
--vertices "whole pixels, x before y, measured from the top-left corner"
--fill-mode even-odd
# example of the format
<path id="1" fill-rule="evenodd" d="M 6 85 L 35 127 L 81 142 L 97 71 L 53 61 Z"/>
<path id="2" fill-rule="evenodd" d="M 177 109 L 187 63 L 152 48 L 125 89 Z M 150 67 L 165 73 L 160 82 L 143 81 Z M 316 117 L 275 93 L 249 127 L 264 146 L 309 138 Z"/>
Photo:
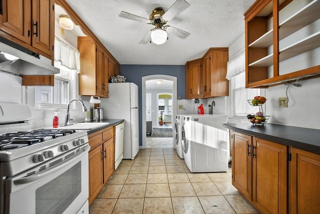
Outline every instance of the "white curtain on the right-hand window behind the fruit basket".
<path id="1" fill-rule="evenodd" d="M 231 116 L 255 114 L 257 107 L 251 106 L 247 100 L 260 95 L 259 89 L 245 88 L 245 56 L 244 50 L 227 63 L 226 79 L 231 84 Z"/>

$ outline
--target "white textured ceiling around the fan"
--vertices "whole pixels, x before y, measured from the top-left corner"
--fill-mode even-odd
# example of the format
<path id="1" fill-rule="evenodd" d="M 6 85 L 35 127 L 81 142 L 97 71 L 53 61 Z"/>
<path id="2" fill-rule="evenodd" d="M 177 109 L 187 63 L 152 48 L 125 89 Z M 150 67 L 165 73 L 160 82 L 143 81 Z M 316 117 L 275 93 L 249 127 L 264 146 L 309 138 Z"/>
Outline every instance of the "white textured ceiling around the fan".
<path id="1" fill-rule="evenodd" d="M 167 11 L 175 0 L 66 0 L 121 64 L 184 65 L 210 47 L 229 47 L 244 34 L 243 14 L 255 0 L 186 0 L 190 7 L 168 22 L 191 35 L 168 35 L 163 45 L 138 44 L 152 25 L 118 17 L 121 11 L 149 18 L 152 9 Z"/>

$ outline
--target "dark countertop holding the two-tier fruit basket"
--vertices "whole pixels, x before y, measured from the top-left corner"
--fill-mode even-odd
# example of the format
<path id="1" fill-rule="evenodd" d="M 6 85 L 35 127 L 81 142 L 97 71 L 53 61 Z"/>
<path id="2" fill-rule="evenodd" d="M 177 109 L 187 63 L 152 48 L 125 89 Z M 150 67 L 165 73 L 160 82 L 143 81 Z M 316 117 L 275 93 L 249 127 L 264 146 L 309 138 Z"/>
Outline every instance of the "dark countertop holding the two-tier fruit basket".
<path id="1" fill-rule="evenodd" d="M 226 123 L 222 126 L 244 134 L 320 154 L 320 129 L 271 123 L 266 123 L 264 126 L 253 126 L 251 123 Z"/>

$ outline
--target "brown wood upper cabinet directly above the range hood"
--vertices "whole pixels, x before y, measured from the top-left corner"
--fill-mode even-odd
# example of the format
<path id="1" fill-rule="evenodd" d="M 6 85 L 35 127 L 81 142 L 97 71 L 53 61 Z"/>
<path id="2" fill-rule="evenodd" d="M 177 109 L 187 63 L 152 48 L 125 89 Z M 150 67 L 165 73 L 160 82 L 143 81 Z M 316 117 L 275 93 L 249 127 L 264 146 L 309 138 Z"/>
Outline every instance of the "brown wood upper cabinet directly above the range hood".
<path id="1" fill-rule="evenodd" d="M 52 60 L 54 0 L 1 0 L 1 3 L 0 36 Z"/>

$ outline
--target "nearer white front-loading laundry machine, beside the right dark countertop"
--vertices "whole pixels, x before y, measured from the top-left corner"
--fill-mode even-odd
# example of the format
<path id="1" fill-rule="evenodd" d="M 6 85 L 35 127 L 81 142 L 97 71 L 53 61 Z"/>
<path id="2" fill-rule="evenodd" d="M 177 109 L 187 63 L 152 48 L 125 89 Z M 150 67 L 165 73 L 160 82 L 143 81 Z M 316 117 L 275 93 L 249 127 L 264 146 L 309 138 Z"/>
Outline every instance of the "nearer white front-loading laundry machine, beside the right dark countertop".
<path id="1" fill-rule="evenodd" d="M 228 171 L 227 115 L 186 115 L 182 125 L 184 162 L 191 172 Z"/>

